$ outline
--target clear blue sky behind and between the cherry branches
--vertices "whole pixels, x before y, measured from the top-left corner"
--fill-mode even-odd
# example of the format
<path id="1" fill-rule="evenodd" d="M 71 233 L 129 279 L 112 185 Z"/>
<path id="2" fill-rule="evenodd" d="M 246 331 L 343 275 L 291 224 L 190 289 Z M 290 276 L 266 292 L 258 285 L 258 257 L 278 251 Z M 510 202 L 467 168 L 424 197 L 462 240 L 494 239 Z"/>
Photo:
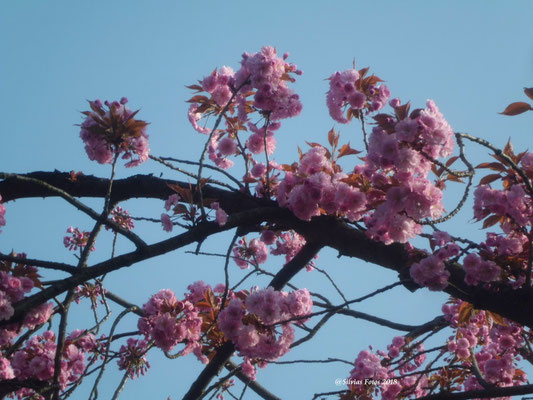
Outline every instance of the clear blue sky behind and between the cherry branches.
<path id="1" fill-rule="evenodd" d="M 434 99 L 456 131 L 485 137 L 498 146 L 511 136 L 516 148 L 531 149 L 529 116 L 508 118 L 498 112 L 510 102 L 524 100 L 522 88 L 533 86 L 532 17 L 530 1 L 0 0 L 0 170 L 58 169 L 108 176 L 108 167 L 88 161 L 76 124 L 81 122 L 79 112 L 87 108 L 86 99 L 122 96 L 141 108 L 141 118 L 151 123 L 153 154 L 197 159 L 205 137 L 188 124 L 185 100 L 190 93 L 185 85 L 215 67 L 237 69 L 243 51 L 256 52 L 263 45 L 290 52 L 289 61 L 304 71 L 294 85 L 304 109 L 277 134 L 279 162 L 292 161 L 296 146 L 305 140 L 326 141 L 334 123 L 325 107 L 325 78 L 349 68 L 354 58 L 358 67 L 370 66 L 387 81 L 393 97 L 411 100 L 415 107 Z M 341 140 L 362 147 L 355 125 L 336 128 Z M 475 160 L 484 153 L 469 147 Z M 154 171 L 163 170 L 146 163 L 135 170 L 121 168 L 118 176 Z M 164 176 L 183 179 L 169 171 Z M 453 200 L 447 203 L 450 208 Z M 161 202 L 155 201 L 131 202 L 126 208 L 151 217 L 163 211 Z M 479 236 L 479 227 L 469 223 L 470 215 L 463 212 L 452 227 Z M 14 249 L 69 262 L 73 257 L 62 248 L 65 229 L 90 226 L 59 200 L 8 204 L 6 218 L 0 251 Z M 165 237 L 158 226 L 139 229 L 146 230 L 151 242 Z M 227 243 L 228 237 L 221 236 L 204 246 L 206 251 L 223 252 Z M 106 254 L 95 254 L 95 260 Z M 108 284 L 117 294 L 142 304 L 160 288 L 182 295 L 194 280 L 216 284 L 223 280 L 222 265 L 219 259 L 182 251 L 112 275 Z M 275 260 L 269 267 L 276 271 L 280 265 L 281 260 Z M 357 260 L 338 260 L 332 252 L 321 254 L 318 265 L 335 277 L 349 298 L 395 280 L 394 274 Z M 240 276 L 236 269 L 234 279 Z M 295 282 L 334 297 L 315 272 L 301 273 Z M 416 324 L 432 318 L 444 300 L 427 290 L 409 294 L 397 289 L 359 310 Z M 81 311 L 74 315 L 69 330 L 84 316 Z M 121 327 L 134 325 L 131 318 Z M 353 360 L 370 344 L 384 347 L 395 334 L 337 317 L 314 342 L 285 359 Z M 150 361 L 149 374 L 130 382 L 123 398 L 178 399 L 202 368 L 192 356 L 169 361 L 155 350 Z M 269 366 L 259 372 L 258 380 L 280 397 L 310 398 L 315 392 L 339 389 L 335 378 L 346 377 L 349 370 L 342 364 Z M 114 390 L 118 380 L 119 375 L 111 373 L 105 390 Z M 248 392 L 245 398 L 255 396 Z"/>

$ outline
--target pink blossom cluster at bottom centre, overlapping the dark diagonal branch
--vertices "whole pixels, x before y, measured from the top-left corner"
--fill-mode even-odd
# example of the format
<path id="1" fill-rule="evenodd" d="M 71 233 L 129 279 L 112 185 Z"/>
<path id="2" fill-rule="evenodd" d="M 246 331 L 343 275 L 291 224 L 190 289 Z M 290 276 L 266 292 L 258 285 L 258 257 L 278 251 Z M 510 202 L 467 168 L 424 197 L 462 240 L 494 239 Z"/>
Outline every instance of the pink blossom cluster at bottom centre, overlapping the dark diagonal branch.
<path id="1" fill-rule="evenodd" d="M 247 359 L 276 360 L 289 351 L 294 340 L 291 321 L 303 322 L 312 305 L 307 289 L 285 293 L 269 287 L 244 300 L 232 298 L 220 313 L 218 326 Z M 276 330 L 277 324 L 281 324 L 281 332 Z M 250 366 L 247 364 L 247 375 L 253 379 L 255 372 Z"/>

